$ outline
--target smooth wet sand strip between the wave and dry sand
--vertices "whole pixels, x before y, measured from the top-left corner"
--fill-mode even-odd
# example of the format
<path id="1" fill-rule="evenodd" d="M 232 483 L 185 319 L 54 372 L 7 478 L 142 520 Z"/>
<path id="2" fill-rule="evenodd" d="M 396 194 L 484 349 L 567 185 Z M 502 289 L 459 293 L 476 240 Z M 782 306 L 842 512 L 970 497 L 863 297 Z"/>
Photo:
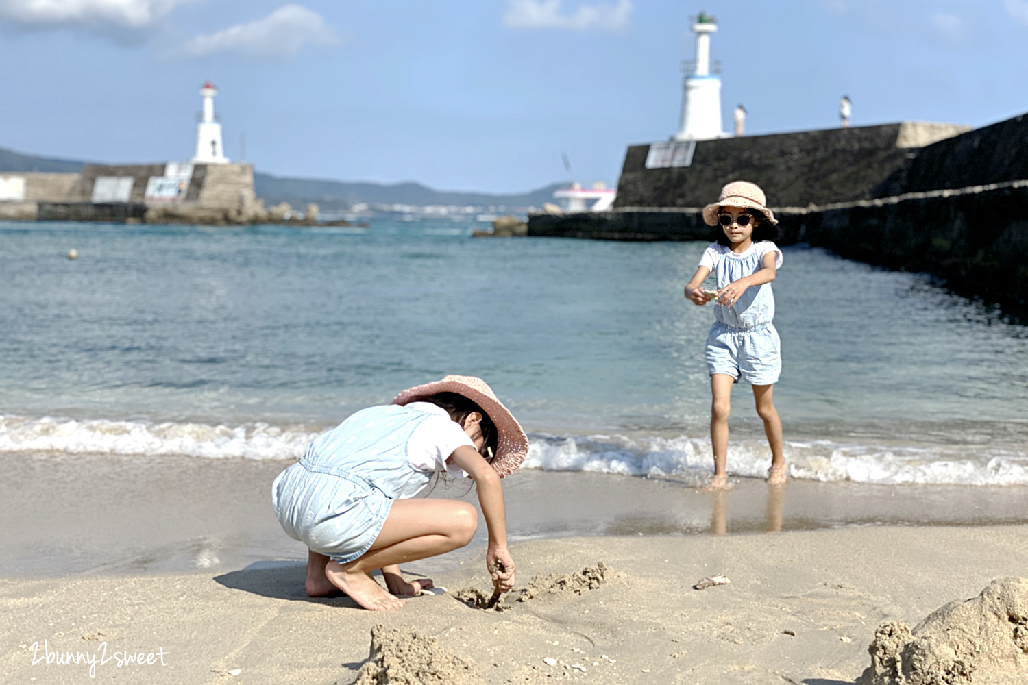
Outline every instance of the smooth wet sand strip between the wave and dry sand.
<path id="1" fill-rule="evenodd" d="M 0 577 L 221 572 L 306 558 L 270 506 L 282 461 L 0 455 Z M 708 535 L 842 526 L 1028 524 L 1021 488 L 868 486 L 751 479 L 726 493 L 675 480 L 522 470 L 504 481 L 512 541 Z M 476 502 L 460 483 L 433 497 Z M 484 523 L 472 546 L 485 543 Z M 588 561 L 588 560 L 587 560 Z M 595 561 L 595 560 L 593 560 Z M 584 562 L 583 562 L 584 563 Z"/>

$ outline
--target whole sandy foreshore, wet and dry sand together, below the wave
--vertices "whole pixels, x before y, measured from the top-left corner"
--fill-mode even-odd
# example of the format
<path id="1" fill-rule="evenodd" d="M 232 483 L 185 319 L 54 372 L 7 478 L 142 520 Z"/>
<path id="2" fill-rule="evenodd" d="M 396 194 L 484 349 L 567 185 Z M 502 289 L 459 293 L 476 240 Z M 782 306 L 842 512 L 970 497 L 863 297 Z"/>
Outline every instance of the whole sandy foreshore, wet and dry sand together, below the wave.
<path id="1" fill-rule="evenodd" d="M 880 622 L 913 625 L 993 578 L 1028 575 L 1016 488 L 741 481 L 712 494 L 524 471 L 505 482 L 518 574 L 509 608 L 443 595 L 373 613 L 304 596 L 303 549 L 268 502 L 282 462 L 0 459 L 4 682 L 95 682 L 88 659 L 104 657 L 96 681 L 350 684 L 381 623 L 435 639 L 440 659 L 471 659 L 487 683 L 842 685 L 870 664 Z M 476 539 L 404 571 L 487 592 L 483 551 Z M 601 583 L 547 579 L 597 562 Z M 715 574 L 731 583 L 693 589 Z M 548 586 L 558 589 L 538 592 Z M 69 652 L 82 660 L 59 663 Z M 117 665 L 125 652 L 144 663 Z"/>

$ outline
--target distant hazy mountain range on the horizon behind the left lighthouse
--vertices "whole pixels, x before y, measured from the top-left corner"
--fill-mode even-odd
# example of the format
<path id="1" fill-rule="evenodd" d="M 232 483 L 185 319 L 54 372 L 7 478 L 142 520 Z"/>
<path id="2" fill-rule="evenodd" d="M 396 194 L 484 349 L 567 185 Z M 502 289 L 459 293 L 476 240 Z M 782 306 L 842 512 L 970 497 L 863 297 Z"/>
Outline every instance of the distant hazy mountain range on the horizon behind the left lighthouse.
<path id="1" fill-rule="evenodd" d="M 0 172 L 79 172 L 88 162 L 69 159 L 34 157 L 13 150 L 0 148 Z M 523 212 L 529 206 L 541 207 L 544 202 L 553 201 L 553 191 L 567 186 L 553 183 L 527 193 L 516 195 L 493 195 L 489 193 L 469 193 L 433 190 L 419 183 L 367 183 L 327 181 L 319 179 L 291 179 L 254 172 L 254 186 L 257 196 L 267 204 L 289 202 L 302 208 L 307 202 L 317 202 L 322 210 L 345 210 L 354 204 L 369 205 L 410 204 L 426 206 L 474 205 L 501 212 Z M 503 206 L 503 210 L 500 207 Z"/>

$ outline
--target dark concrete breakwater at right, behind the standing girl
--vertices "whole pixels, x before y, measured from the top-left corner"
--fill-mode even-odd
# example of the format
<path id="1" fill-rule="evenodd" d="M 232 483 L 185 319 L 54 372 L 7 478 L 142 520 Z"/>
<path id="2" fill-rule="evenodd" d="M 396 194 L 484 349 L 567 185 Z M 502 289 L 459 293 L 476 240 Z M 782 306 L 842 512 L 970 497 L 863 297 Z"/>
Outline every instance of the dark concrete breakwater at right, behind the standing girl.
<path id="1" fill-rule="evenodd" d="M 722 184 L 746 179 L 794 205 L 774 207 L 782 244 L 931 273 L 958 294 L 1026 315 L 1028 116 L 959 130 L 905 123 L 705 141 L 677 168 L 654 167 L 653 146 L 634 146 L 612 212 L 534 215 L 528 234 L 712 240 L 700 206 Z"/>

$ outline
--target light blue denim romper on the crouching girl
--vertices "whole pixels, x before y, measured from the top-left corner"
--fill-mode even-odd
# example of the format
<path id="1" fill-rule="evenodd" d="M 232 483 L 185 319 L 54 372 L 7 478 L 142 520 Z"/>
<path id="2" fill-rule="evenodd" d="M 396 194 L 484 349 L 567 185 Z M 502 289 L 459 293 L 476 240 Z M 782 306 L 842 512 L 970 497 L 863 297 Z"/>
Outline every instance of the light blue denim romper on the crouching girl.
<path id="1" fill-rule="evenodd" d="M 394 499 L 432 480 L 407 461 L 407 441 L 428 412 L 370 407 L 322 433 L 271 485 L 271 505 L 286 533 L 340 564 L 366 553 Z"/>

